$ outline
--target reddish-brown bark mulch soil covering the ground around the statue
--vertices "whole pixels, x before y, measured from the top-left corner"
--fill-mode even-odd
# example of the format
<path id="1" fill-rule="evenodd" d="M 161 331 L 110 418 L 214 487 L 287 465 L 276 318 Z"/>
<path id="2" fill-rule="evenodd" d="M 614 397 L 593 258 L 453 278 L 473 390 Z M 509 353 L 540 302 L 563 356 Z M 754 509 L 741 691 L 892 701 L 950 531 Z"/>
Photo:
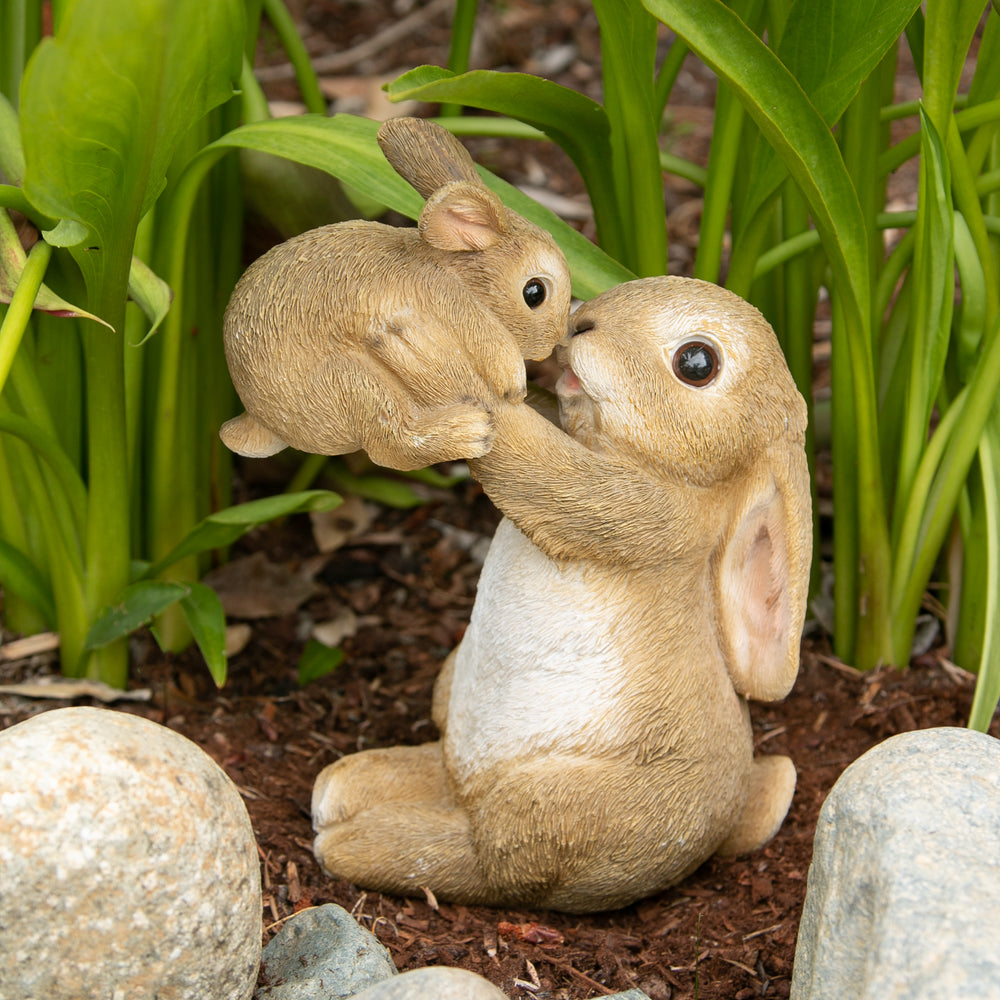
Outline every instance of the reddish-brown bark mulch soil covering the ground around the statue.
<path id="1" fill-rule="evenodd" d="M 292 6 L 310 25 L 307 42 L 316 56 L 377 37 L 411 10 L 389 0 L 303 0 Z M 589 4 L 513 0 L 484 8 L 481 17 L 476 65 L 540 71 L 539 60 L 556 46 L 573 45 L 568 63 L 546 75 L 599 97 L 599 49 Z M 402 43 L 348 58 L 325 74 L 324 86 L 330 94 L 346 95 L 338 98 L 347 102 L 345 109 L 364 112 L 370 110 L 365 102 L 372 100 L 374 77 L 391 78 L 420 62 L 443 64 L 447 45 L 446 19 L 430 16 Z M 267 45 L 261 58 L 280 62 Z M 268 82 L 269 93 L 294 99 L 294 86 L 280 75 Z M 711 80 L 692 65 L 678 88 L 679 124 L 670 141 L 684 155 L 703 156 Z M 362 106 L 350 106 L 352 100 Z M 490 141 L 473 148 L 515 181 L 579 196 L 579 181 L 558 150 Z M 688 185 L 667 183 L 671 270 L 683 272 L 693 256 L 699 204 Z M 581 227 L 587 231 L 586 221 Z M 248 463 L 241 471 L 258 478 L 262 468 L 272 467 Z M 240 489 L 246 494 L 256 487 L 244 483 Z M 906 672 L 862 676 L 833 660 L 821 636 L 807 639 L 790 696 L 752 708 L 758 747 L 790 755 L 799 772 L 777 837 L 752 857 L 710 860 L 679 886 L 625 910 L 581 917 L 437 905 L 364 892 L 319 870 L 311 852 L 313 779 L 343 754 L 434 737 L 431 688 L 443 656 L 462 635 L 478 573 L 468 539 L 451 528 L 485 537 L 496 520 L 470 484 L 433 493 L 415 511 L 382 510 L 365 535 L 314 564 L 308 562 L 316 549 L 307 519 L 261 529 L 238 553 L 263 551 L 293 571 L 305 564 L 316 574 L 311 598 L 296 611 L 253 623 L 251 641 L 231 661 L 221 691 L 196 654 L 165 656 L 148 636 L 139 636 L 132 686 L 150 688 L 153 695 L 147 703 L 118 707 L 190 737 L 240 789 L 260 847 L 265 940 L 294 912 L 335 902 L 374 931 L 401 970 L 458 965 L 511 997 L 583 1000 L 631 987 L 652 1000 L 788 996 L 813 832 L 830 787 L 851 761 L 888 736 L 960 726 L 968 715 L 971 678 L 934 653 Z M 343 642 L 344 662 L 332 675 L 300 687 L 295 664 L 311 623 L 344 607 L 359 622 L 357 633 Z M 34 661 L 0 661 L 0 682 L 51 669 Z M 0 728 L 50 707 L 0 696 Z M 996 719 L 992 731 L 1000 735 Z"/>

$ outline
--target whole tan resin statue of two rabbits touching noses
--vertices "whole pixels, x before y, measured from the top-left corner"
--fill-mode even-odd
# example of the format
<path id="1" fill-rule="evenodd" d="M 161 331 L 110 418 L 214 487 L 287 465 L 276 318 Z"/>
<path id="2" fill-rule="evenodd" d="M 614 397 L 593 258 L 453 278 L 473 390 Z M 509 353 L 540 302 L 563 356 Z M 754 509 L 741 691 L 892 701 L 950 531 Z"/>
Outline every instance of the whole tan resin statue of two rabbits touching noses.
<path id="1" fill-rule="evenodd" d="M 805 405 L 774 333 L 715 285 L 648 278 L 570 319 L 547 236 L 446 133 L 380 133 L 418 232 L 343 224 L 254 265 L 226 321 L 230 447 L 465 458 L 505 515 L 434 693 L 440 739 L 344 757 L 313 794 L 324 868 L 368 889 L 586 912 L 780 826 L 787 757 L 747 699 L 798 669 Z M 567 327 L 568 324 L 568 327 Z M 522 356 L 557 340 L 560 426 Z"/>

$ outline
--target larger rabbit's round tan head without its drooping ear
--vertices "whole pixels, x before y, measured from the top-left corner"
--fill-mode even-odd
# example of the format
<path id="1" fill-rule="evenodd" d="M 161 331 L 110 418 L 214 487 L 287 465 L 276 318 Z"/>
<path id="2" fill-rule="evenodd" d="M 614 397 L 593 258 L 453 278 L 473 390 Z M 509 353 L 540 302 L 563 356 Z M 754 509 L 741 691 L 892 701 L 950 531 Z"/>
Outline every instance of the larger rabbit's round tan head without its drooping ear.
<path id="1" fill-rule="evenodd" d="M 699 486 L 801 434 L 805 404 L 767 321 L 708 282 L 646 278 L 573 315 L 563 426 L 588 447 Z"/>

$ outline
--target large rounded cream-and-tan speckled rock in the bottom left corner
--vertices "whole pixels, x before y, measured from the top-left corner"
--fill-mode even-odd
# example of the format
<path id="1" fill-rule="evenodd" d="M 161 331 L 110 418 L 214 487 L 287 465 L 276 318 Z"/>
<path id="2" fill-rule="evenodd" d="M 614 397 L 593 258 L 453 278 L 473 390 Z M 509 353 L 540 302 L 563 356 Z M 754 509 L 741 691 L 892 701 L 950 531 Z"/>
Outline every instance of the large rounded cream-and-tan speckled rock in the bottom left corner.
<path id="1" fill-rule="evenodd" d="M 0 1000 L 245 1000 L 260 869 L 236 788 L 183 736 L 96 708 L 0 733 Z"/>

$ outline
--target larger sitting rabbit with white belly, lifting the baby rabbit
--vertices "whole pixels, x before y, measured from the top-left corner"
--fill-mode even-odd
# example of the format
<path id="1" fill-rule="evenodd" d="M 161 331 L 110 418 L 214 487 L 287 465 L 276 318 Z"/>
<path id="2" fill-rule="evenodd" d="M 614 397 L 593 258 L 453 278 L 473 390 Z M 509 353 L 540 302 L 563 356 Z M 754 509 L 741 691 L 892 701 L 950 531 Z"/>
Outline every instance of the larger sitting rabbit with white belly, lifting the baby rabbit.
<path id="1" fill-rule="evenodd" d="M 795 786 L 747 698 L 798 669 L 811 547 L 805 405 L 771 328 L 714 285 L 584 305 L 564 430 L 498 401 L 470 463 L 506 515 L 434 693 L 438 742 L 320 774 L 315 850 L 370 889 L 624 906 L 756 849 Z"/>

